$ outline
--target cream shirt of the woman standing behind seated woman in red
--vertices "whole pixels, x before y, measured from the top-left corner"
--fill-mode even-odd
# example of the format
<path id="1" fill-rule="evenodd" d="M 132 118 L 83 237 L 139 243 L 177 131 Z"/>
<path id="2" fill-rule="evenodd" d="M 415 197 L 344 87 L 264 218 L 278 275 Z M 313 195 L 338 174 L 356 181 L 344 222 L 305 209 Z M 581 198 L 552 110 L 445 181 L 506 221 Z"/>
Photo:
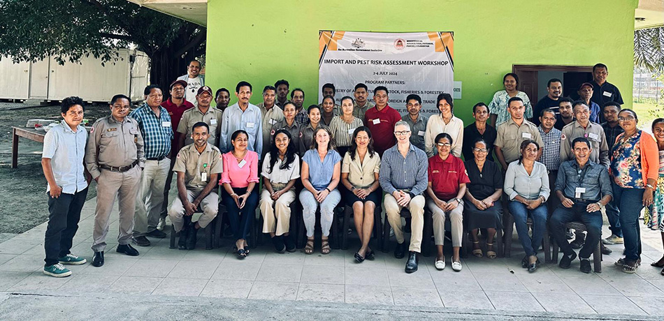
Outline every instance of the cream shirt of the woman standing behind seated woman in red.
<path id="1" fill-rule="evenodd" d="M 435 137 L 440 133 L 447 133 L 452 136 L 452 155 L 461 157 L 461 145 L 463 145 L 463 121 L 452 115 L 452 119 L 449 119 L 449 123 L 445 124 L 445 121 L 442 120 L 442 114 L 431 115 L 426 122 L 426 133 L 424 133 L 424 151 L 426 151 L 426 156 L 431 157 L 438 153 L 434 145 Z"/>

